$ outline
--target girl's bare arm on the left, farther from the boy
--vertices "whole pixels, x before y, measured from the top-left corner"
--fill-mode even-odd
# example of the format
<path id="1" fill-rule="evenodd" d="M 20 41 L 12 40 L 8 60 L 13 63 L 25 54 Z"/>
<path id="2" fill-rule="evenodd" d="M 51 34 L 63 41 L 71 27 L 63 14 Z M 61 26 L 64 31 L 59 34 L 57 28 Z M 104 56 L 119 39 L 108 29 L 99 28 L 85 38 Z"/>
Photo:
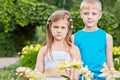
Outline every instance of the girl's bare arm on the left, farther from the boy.
<path id="1" fill-rule="evenodd" d="M 40 71 L 42 73 L 44 72 L 44 52 L 45 49 L 44 47 L 42 47 L 38 53 L 37 61 L 35 65 L 35 70 Z"/>

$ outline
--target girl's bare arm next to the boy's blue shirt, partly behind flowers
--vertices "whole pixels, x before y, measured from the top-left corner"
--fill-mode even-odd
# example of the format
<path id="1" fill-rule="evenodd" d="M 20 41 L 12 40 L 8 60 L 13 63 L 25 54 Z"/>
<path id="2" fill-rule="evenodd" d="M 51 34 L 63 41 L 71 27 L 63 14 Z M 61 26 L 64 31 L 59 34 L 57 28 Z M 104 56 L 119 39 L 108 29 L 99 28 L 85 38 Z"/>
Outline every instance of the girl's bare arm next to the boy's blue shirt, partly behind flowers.
<path id="1" fill-rule="evenodd" d="M 77 46 L 74 45 L 72 47 L 70 54 L 71 54 L 72 59 L 81 60 L 80 51 Z M 71 72 L 72 72 L 71 76 L 73 76 L 73 80 L 79 80 L 79 70 L 72 69 Z"/>

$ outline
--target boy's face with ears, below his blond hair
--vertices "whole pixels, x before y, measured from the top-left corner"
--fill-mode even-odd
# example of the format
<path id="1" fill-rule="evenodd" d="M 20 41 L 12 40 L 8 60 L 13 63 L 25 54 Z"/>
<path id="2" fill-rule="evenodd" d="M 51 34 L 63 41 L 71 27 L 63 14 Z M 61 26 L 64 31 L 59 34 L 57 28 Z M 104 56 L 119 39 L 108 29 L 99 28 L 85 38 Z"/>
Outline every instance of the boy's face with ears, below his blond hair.
<path id="1" fill-rule="evenodd" d="M 86 27 L 97 27 L 98 20 L 102 16 L 102 12 L 98 8 L 83 8 L 80 16 Z"/>

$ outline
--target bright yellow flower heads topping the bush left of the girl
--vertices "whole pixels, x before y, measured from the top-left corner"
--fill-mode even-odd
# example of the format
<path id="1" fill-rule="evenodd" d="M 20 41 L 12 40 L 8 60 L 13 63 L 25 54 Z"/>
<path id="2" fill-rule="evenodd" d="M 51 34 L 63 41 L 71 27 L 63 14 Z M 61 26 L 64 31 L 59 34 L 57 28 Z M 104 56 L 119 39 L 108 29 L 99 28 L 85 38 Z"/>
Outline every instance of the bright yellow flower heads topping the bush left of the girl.
<path id="1" fill-rule="evenodd" d="M 38 52 L 39 49 L 41 48 L 40 44 L 36 44 L 36 45 L 30 45 L 30 46 L 25 46 L 22 48 L 21 52 L 18 52 L 18 55 L 22 55 L 22 57 L 24 57 L 24 55 L 26 54 L 31 54 L 33 52 Z"/>

